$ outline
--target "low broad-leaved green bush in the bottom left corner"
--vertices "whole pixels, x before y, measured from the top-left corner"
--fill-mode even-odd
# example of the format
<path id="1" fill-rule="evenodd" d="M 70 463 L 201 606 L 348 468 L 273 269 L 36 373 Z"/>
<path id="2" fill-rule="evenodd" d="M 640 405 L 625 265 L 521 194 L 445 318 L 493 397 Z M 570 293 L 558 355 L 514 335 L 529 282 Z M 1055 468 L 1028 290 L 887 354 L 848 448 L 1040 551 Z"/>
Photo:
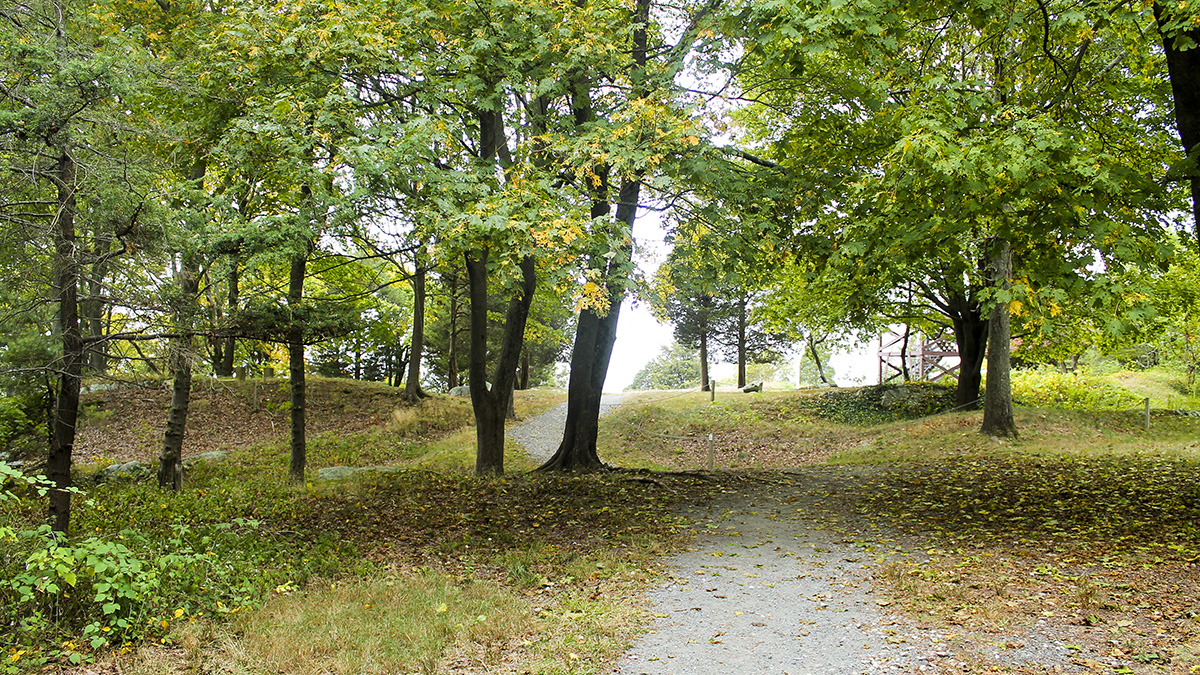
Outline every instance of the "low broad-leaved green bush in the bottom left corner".
<path id="1" fill-rule="evenodd" d="M 0 483 L 5 510 L 50 488 L 5 462 Z M 97 650 L 166 635 L 179 620 L 259 604 L 277 579 L 245 555 L 256 550 L 258 527 L 180 521 L 152 539 L 133 530 L 68 538 L 47 525 L 0 526 L 0 673 L 82 663 Z"/>

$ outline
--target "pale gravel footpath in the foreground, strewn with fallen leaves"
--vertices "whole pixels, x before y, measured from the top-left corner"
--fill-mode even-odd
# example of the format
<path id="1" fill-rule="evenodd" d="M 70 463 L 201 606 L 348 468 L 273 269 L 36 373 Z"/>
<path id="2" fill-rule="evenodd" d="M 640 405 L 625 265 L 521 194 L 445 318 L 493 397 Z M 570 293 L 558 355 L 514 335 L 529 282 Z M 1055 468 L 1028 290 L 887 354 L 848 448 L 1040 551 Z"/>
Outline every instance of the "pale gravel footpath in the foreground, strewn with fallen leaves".
<path id="1" fill-rule="evenodd" d="M 871 590 L 886 562 L 836 530 L 824 500 L 854 471 L 748 478 L 691 514 L 697 537 L 653 591 L 654 623 L 613 673 L 920 673 L 950 665 L 936 631 L 902 628 Z M 832 528 L 816 528 L 820 519 Z M 830 521 L 830 519 L 834 519 Z"/>

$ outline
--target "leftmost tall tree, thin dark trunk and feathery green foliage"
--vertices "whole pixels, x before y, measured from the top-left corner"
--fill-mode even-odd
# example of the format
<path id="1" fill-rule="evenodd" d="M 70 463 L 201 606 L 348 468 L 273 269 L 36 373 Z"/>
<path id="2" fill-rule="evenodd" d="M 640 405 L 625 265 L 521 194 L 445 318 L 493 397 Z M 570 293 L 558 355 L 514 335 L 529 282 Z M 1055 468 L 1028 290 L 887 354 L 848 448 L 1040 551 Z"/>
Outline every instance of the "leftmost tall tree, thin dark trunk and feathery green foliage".
<path id="1" fill-rule="evenodd" d="M 95 241 L 102 239 L 89 243 L 85 237 L 133 235 L 143 205 L 130 190 L 142 185 L 142 169 L 120 165 L 113 154 L 102 151 L 119 138 L 103 138 L 118 129 L 118 113 L 109 103 L 127 84 L 137 56 L 126 46 L 113 44 L 122 36 L 96 31 L 91 18 L 66 0 L 0 8 L 0 190 L 5 195 L 0 227 L 7 231 L 6 240 L 20 241 L 31 259 L 46 261 L 52 270 L 44 285 L 56 310 L 59 353 L 46 364 L 58 380 L 48 420 L 47 476 L 55 484 L 49 515 L 59 532 L 70 528 L 67 489 L 86 360 L 80 279 L 89 251 L 97 250 Z M 120 59 L 113 58 L 114 52 L 121 52 Z M 120 251 L 126 249 L 122 243 Z"/>

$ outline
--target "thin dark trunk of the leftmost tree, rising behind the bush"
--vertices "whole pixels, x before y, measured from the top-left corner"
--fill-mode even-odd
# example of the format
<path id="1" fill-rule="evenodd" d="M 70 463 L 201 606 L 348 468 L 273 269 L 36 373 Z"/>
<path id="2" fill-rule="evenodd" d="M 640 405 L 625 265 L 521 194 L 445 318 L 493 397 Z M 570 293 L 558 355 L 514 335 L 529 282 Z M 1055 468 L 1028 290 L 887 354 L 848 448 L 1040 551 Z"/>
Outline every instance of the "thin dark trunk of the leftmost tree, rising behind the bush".
<path id="1" fill-rule="evenodd" d="M 59 300 L 59 334 L 62 362 L 59 394 L 54 404 L 50 452 L 46 476 L 54 483 L 49 515 L 55 532 L 71 528 L 71 455 L 74 450 L 76 420 L 79 417 L 79 381 L 83 375 L 84 344 L 79 330 L 79 263 L 76 258 L 76 161 L 70 150 L 59 154 L 58 217 L 54 219 L 54 287 Z"/>

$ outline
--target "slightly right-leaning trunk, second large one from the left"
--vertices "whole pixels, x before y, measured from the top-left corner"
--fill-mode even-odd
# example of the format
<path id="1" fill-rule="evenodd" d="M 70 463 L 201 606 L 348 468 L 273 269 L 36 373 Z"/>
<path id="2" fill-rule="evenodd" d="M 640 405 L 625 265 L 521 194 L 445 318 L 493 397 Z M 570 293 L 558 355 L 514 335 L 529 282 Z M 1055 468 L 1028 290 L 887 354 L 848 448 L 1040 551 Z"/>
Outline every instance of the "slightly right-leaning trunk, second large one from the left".
<path id="1" fill-rule="evenodd" d="M 192 394 L 192 317 L 198 307 L 200 273 L 193 256 L 185 255 L 179 270 L 179 306 L 175 310 L 175 329 L 179 338 L 170 340 L 172 392 L 170 408 L 167 411 L 167 429 L 158 455 L 158 486 L 180 491 L 184 486 L 184 430 L 187 426 L 187 408 Z"/>

